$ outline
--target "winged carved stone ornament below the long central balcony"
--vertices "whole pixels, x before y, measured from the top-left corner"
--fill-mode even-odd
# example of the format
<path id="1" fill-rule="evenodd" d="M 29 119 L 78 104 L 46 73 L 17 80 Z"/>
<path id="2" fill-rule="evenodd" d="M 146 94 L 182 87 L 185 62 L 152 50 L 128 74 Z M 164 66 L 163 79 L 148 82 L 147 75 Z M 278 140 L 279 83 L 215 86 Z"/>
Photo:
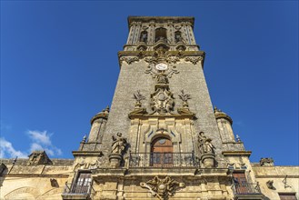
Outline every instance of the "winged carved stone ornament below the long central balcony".
<path id="1" fill-rule="evenodd" d="M 147 188 L 158 199 L 166 200 L 169 196 L 174 195 L 176 189 L 184 187 L 184 183 L 179 183 L 169 176 L 164 179 L 154 176 L 152 180 L 140 183 L 140 186 Z"/>

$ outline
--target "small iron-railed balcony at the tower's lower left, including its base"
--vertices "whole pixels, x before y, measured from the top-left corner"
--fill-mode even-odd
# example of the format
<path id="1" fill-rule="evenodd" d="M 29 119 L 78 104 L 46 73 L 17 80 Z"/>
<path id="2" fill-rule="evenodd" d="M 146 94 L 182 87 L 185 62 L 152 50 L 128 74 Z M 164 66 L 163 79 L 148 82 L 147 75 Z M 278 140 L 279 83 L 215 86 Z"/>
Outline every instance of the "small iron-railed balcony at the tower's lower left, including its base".
<path id="1" fill-rule="evenodd" d="M 65 184 L 65 190 L 62 194 L 64 200 L 66 199 L 91 199 L 92 185 L 71 185 Z"/>

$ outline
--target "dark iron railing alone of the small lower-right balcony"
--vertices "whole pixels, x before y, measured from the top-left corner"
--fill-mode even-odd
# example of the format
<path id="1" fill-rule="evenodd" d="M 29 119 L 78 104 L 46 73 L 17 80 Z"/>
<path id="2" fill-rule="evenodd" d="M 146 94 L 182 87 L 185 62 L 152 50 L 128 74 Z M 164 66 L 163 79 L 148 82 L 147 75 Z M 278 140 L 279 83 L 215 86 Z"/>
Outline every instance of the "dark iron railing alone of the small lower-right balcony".
<path id="1" fill-rule="evenodd" d="M 234 195 L 257 195 L 262 194 L 260 185 L 257 184 L 238 184 L 233 185 Z"/>

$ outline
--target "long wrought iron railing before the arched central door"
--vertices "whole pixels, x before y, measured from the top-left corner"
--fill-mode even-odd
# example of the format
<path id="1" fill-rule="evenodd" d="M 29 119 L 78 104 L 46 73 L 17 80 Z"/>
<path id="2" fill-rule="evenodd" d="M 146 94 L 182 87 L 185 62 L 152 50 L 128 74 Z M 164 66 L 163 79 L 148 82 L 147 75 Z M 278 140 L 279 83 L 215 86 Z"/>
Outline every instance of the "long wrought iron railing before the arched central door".
<path id="1" fill-rule="evenodd" d="M 130 167 L 186 167 L 199 166 L 194 153 L 130 153 Z"/>

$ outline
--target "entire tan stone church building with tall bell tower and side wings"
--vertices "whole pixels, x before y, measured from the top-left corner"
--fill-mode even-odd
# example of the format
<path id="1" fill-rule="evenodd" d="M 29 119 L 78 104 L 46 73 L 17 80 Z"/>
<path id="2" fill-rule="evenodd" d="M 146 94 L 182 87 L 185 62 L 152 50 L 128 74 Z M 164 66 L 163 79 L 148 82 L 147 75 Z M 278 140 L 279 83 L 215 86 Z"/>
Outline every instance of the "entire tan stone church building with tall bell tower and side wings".
<path id="1" fill-rule="evenodd" d="M 111 109 L 92 118 L 75 159 L 2 160 L 1 199 L 298 198 L 299 168 L 251 164 L 231 117 L 213 109 L 194 18 L 128 24 Z"/>

